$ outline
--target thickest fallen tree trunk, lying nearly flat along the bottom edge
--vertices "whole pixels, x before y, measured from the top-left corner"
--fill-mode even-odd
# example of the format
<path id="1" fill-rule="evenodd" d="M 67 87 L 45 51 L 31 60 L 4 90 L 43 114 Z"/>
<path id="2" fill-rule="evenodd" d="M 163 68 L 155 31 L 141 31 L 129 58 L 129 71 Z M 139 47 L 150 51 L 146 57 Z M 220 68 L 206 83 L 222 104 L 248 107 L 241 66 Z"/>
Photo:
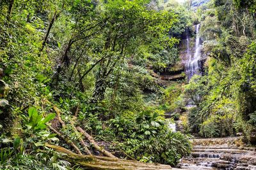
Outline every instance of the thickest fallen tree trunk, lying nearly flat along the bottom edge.
<path id="1" fill-rule="evenodd" d="M 138 162 L 134 160 L 125 160 L 125 159 L 117 159 L 113 157 L 98 157 L 92 155 L 77 155 L 61 146 L 49 145 L 45 144 L 45 146 L 49 148 L 53 148 L 57 152 L 67 153 L 63 157 L 63 159 L 72 162 L 73 164 L 77 164 L 79 166 L 85 167 L 86 169 L 93 170 L 170 170 L 171 166 L 163 165 L 163 164 L 150 164 L 144 162 Z"/>

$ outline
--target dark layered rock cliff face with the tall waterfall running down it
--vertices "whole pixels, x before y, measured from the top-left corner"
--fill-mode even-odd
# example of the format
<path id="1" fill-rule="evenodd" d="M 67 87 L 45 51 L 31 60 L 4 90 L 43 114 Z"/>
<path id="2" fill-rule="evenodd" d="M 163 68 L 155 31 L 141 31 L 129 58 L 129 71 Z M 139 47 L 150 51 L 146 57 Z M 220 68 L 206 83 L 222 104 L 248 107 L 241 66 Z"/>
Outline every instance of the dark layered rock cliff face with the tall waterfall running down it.
<path id="1" fill-rule="evenodd" d="M 205 1 L 206 2 L 206 1 Z M 194 74 L 204 75 L 206 57 L 201 52 L 202 39 L 199 36 L 200 24 L 187 28 L 180 40 L 179 62 L 157 76 L 159 84 L 168 85 L 168 81 L 187 80 Z"/>

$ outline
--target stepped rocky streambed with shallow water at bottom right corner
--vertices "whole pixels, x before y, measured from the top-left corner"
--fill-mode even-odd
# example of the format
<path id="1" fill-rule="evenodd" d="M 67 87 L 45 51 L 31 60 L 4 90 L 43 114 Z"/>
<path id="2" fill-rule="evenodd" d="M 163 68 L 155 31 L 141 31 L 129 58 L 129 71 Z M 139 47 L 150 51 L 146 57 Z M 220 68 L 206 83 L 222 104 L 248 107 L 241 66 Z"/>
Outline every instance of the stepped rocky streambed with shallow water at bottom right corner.
<path id="1" fill-rule="evenodd" d="M 241 138 L 194 139 L 193 152 L 180 160 L 181 169 L 256 170 L 255 148 Z"/>

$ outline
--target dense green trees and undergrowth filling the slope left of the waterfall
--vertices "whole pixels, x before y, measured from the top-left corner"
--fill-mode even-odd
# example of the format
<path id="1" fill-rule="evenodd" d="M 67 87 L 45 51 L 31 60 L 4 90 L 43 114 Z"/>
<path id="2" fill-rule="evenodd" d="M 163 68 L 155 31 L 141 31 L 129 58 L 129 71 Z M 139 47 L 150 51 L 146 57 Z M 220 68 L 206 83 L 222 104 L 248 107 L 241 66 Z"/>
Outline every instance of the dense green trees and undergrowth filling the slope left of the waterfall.
<path id="1" fill-rule="evenodd" d="M 189 136 L 168 128 L 163 114 L 175 108 L 175 89 L 163 92 L 149 69 L 179 60 L 188 25 L 178 4 L 1 1 L 0 169 L 79 169 L 45 147 L 74 151 L 51 125 L 85 153 L 74 118 L 97 141 L 111 141 L 109 150 L 124 152 L 118 157 L 177 164 L 191 150 Z"/>

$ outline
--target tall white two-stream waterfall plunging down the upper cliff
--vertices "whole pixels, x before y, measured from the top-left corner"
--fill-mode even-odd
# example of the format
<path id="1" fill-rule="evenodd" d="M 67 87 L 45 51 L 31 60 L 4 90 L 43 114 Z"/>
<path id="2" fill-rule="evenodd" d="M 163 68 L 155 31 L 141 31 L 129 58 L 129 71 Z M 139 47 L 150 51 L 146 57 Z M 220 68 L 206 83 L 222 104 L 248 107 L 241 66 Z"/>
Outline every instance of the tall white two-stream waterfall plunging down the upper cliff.
<path id="1" fill-rule="evenodd" d="M 200 58 L 201 58 L 201 44 L 200 44 L 200 36 L 199 36 L 200 24 L 196 25 L 196 41 L 195 41 L 195 53 L 192 58 L 190 48 L 189 48 L 189 35 L 187 30 L 187 59 L 188 61 L 185 64 L 186 67 L 186 75 L 188 76 L 188 81 L 194 74 L 200 75 Z"/>

